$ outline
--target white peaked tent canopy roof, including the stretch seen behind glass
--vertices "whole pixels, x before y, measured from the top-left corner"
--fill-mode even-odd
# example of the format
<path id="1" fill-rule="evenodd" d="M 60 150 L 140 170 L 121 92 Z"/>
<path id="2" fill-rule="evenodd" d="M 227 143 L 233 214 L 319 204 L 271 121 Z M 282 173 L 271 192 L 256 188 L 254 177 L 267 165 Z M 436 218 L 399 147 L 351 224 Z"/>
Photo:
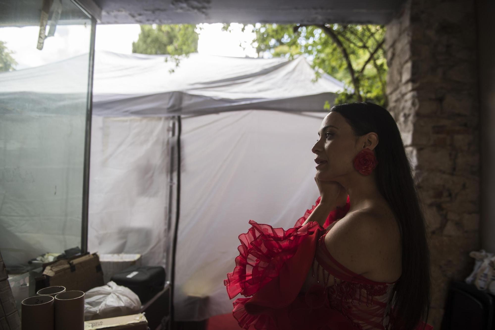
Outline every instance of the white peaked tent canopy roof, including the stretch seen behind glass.
<path id="1" fill-rule="evenodd" d="M 325 102 L 333 103 L 334 93 L 344 87 L 327 74 L 312 82 L 314 70 L 303 56 L 287 60 L 195 53 L 182 58 L 178 67 L 173 60 L 165 61 L 165 58 L 170 57 L 97 52 L 93 114 L 162 116 L 251 109 L 321 111 Z M 2 74 L 0 101 L 6 97 L 2 92 L 85 93 L 80 90 L 84 86 L 80 81 L 87 79 L 86 62 L 87 55 L 80 55 Z M 44 79 L 47 75 L 59 78 L 47 85 Z"/>

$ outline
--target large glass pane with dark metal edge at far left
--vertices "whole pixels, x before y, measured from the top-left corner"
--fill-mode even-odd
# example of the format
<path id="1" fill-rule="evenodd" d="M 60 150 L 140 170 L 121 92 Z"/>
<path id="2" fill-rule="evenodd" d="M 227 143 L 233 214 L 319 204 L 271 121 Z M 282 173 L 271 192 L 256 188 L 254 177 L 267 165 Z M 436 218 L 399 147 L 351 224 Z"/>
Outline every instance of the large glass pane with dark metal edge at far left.
<path id="1" fill-rule="evenodd" d="M 81 246 L 92 21 L 72 1 L 58 3 L 42 50 L 43 1 L 0 4 L 0 251 L 10 276 Z"/>

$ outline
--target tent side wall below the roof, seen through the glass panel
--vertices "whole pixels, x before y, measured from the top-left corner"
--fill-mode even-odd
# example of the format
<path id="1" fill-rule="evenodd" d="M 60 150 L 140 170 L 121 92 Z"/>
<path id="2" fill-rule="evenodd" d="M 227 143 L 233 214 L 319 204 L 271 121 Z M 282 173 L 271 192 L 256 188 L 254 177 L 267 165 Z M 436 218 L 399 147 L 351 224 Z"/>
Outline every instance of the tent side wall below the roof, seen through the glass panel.
<path id="1" fill-rule="evenodd" d="M 13 274 L 81 244 L 85 122 L 84 114 L 0 116 L 0 250 Z"/>

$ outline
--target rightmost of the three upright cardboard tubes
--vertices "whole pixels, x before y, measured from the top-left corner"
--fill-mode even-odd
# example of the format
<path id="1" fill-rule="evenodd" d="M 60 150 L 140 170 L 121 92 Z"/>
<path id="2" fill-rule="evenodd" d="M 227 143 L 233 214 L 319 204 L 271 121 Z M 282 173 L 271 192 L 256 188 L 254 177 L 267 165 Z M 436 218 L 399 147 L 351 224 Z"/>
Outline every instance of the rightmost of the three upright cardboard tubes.
<path id="1" fill-rule="evenodd" d="M 55 296 L 55 330 L 84 330 L 84 292 L 66 291 Z"/>

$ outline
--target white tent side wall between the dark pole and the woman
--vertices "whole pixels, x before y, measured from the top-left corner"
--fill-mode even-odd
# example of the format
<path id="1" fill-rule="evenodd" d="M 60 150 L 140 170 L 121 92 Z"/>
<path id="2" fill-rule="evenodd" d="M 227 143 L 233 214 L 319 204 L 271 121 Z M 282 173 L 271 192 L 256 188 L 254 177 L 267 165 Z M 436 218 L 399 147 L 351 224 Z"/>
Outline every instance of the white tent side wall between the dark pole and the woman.
<path id="1" fill-rule="evenodd" d="M 177 320 L 232 312 L 223 279 L 248 220 L 287 229 L 314 203 L 311 147 L 324 115 L 247 110 L 183 120 Z"/>

